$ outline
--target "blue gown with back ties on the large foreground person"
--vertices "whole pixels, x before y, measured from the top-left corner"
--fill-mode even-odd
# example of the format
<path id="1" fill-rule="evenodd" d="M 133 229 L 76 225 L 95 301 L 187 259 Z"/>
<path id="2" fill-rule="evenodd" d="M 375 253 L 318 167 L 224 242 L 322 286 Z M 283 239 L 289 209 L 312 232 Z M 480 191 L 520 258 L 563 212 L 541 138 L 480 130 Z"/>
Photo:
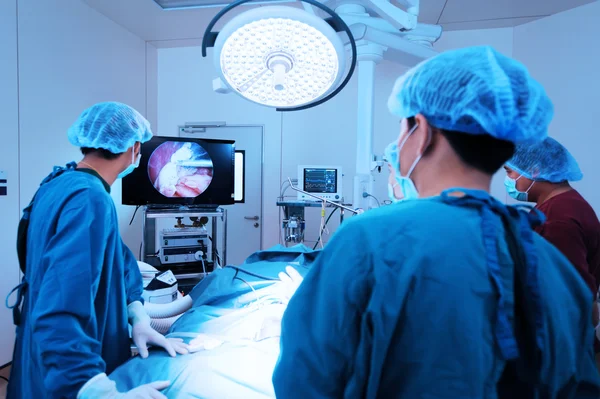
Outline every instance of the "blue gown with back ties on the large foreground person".
<path id="1" fill-rule="evenodd" d="M 508 359 L 502 350 L 515 350 L 498 337 L 506 333 L 502 317 L 509 327 L 515 322 L 505 226 L 516 221 L 484 222 L 484 210 L 508 209 L 487 193 L 471 192 L 479 207 L 447 194 L 344 222 L 283 316 L 278 399 L 534 398 L 498 394 Z M 530 233 L 540 397 L 597 398 L 592 296 L 566 258 Z"/>

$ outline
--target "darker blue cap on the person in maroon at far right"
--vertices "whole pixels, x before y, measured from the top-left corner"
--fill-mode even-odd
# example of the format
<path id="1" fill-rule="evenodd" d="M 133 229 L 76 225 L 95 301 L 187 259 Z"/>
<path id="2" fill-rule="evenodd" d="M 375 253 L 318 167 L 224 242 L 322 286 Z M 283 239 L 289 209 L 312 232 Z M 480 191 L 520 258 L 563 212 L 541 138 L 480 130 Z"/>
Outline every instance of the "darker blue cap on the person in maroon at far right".
<path id="1" fill-rule="evenodd" d="M 561 183 L 583 178 L 573 155 L 552 137 L 533 145 L 518 145 L 506 166 L 535 181 Z"/>

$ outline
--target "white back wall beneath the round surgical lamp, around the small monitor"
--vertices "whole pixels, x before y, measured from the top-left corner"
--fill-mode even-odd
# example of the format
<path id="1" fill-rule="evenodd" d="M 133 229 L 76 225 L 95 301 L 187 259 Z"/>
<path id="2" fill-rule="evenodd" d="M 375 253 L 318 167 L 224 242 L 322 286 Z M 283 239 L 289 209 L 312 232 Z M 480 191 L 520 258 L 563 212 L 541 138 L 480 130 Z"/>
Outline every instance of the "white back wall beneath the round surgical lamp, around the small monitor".
<path id="1" fill-rule="evenodd" d="M 491 44 L 512 55 L 512 29 L 448 32 L 440 50 L 475 44 Z M 191 121 L 226 121 L 230 124 L 265 126 L 263 246 L 279 241 L 279 185 L 288 176 L 296 177 L 298 164 L 339 164 L 344 169 L 344 197 L 352 201 L 356 165 L 356 75 L 344 90 L 329 102 L 305 111 L 277 113 L 235 94 L 217 94 L 211 82 L 216 76 L 212 53 L 202 58 L 199 47 L 158 50 L 158 126 L 160 135 L 176 135 L 179 124 Z M 387 111 L 387 98 L 405 67 L 382 62 L 376 70 L 374 150 L 382 155 L 385 146 L 398 137 L 399 121 Z M 387 169 L 376 176 L 373 195 L 387 199 Z M 495 181 L 493 193 L 504 199 L 504 186 Z M 287 194 L 291 194 L 288 192 Z M 318 236 L 317 209 L 307 210 L 307 241 Z M 330 222 L 331 231 L 338 218 Z"/>

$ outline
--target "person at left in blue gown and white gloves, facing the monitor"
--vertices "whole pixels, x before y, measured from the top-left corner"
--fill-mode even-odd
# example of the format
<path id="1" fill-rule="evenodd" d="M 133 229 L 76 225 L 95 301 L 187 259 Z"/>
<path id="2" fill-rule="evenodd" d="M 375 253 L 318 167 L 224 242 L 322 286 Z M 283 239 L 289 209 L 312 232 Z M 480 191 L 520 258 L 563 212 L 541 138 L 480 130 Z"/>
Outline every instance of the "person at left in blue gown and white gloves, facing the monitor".
<path id="1" fill-rule="evenodd" d="M 107 374 L 146 344 L 185 353 L 150 327 L 142 278 L 119 234 L 110 187 L 130 173 L 150 124 L 115 102 L 85 110 L 68 131 L 84 158 L 44 179 L 19 224 L 24 280 L 13 306 L 17 339 L 8 398 L 161 398 L 168 382 L 119 393 Z M 20 308 L 20 302 L 23 301 Z"/>

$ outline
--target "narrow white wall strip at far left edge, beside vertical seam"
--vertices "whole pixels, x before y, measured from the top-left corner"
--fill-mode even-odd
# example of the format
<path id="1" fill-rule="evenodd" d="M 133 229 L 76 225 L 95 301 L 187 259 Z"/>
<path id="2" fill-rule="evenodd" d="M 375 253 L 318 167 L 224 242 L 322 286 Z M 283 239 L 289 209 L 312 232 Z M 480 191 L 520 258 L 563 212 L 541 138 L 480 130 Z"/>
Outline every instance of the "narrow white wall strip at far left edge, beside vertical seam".
<path id="1" fill-rule="evenodd" d="M 7 196 L 0 197 L 0 298 L 19 283 L 16 233 L 19 222 L 19 118 L 17 99 L 17 2 L 0 2 L 0 171 Z M 14 344 L 12 312 L 0 304 L 0 367 L 10 362 Z"/>

